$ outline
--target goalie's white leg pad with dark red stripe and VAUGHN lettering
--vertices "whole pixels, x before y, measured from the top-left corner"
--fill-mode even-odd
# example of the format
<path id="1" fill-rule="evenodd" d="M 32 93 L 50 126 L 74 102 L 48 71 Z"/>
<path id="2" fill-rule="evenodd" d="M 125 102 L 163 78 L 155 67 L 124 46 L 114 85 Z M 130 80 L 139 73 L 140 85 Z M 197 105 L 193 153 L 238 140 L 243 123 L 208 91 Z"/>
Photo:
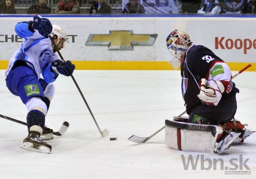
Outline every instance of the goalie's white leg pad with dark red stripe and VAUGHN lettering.
<path id="1" fill-rule="evenodd" d="M 222 133 L 217 125 L 165 120 L 165 144 L 176 150 L 215 153 L 216 140 Z"/>

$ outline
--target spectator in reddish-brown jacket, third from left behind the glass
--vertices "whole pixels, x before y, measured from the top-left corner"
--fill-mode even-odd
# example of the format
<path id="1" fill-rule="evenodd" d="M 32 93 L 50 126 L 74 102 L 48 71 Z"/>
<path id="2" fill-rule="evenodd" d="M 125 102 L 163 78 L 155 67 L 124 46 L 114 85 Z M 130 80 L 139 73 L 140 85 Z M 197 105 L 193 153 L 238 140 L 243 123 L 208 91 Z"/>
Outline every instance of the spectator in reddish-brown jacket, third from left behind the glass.
<path id="1" fill-rule="evenodd" d="M 79 14 L 80 4 L 77 0 L 60 0 L 55 9 L 56 14 Z"/>

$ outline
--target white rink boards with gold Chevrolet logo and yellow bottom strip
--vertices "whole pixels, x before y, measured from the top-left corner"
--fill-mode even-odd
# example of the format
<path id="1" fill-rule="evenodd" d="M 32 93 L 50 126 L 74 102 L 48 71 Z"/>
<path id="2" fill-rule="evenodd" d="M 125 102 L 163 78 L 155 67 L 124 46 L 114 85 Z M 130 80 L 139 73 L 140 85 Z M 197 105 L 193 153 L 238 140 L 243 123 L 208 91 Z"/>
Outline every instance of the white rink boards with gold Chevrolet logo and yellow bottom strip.
<path id="1" fill-rule="evenodd" d="M 61 50 L 77 69 L 88 70 L 173 70 L 165 40 L 174 29 L 186 31 L 195 44 L 205 45 L 231 70 L 254 65 L 256 18 L 249 16 L 44 16 L 66 31 L 69 44 Z M 15 33 L 15 24 L 32 20 L 32 15 L 1 15 L 0 69 L 19 48 L 23 39 Z M 239 24 L 239 26 L 237 26 Z"/>

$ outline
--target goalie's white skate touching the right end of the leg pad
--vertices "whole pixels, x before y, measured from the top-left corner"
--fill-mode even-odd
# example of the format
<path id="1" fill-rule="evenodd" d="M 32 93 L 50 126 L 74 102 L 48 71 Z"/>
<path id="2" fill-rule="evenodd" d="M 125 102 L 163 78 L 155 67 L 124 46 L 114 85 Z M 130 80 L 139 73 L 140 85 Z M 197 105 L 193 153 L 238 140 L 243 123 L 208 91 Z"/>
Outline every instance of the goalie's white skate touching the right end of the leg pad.
<path id="1" fill-rule="evenodd" d="M 217 153 L 223 153 L 223 151 L 230 148 L 232 142 L 236 140 L 240 134 L 241 133 L 230 132 L 223 140 L 216 142 L 214 151 Z"/>

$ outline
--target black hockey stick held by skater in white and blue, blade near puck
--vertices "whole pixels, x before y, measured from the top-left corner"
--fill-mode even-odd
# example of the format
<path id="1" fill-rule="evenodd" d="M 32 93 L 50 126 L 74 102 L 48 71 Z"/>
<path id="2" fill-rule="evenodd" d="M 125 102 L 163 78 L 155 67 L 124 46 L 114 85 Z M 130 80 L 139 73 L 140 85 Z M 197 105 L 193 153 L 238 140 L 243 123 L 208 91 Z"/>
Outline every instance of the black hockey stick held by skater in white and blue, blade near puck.
<path id="1" fill-rule="evenodd" d="M 59 49 L 57 48 L 56 44 L 54 43 L 52 37 L 51 37 L 50 35 L 48 35 L 48 37 L 49 37 L 50 40 L 52 41 L 52 44 L 54 45 L 54 48 L 55 48 L 56 51 L 58 52 L 59 57 L 60 57 L 61 60 L 65 63 L 65 60 L 64 60 L 64 58 L 62 57 L 61 53 L 59 52 Z M 93 113 L 91 112 L 91 109 L 90 109 L 88 103 L 86 102 L 85 97 L 83 96 L 82 91 L 80 90 L 80 87 L 79 87 L 78 84 L 76 83 L 76 80 L 75 80 L 74 76 L 71 75 L 71 78 L 73 79 L 73 81 L 74 81 L 74 83 L 75 83 L 75 85 L 76 85 L 78 91 L 80 92 L 80 94 L 81 94 L 81 96 L 82 96 L 82 98 L 83 98 L 83 101 L 85 102 L 85 104 L 86 104 L 86 106 L 87 106 L 89 112 L 91 113 L 91 116 L 93 117 L 93 120 L 94 120 L 96 126 L 98 127 L 98 130 L 100 131 L 101 136 L 102 136 L 102 137 L 106 137 L 106 136 L 108 135 L 108 130 L 107 130 L 107 129 L 104 129 L 103 131 L 100 130 L 100 127 L 98 126 L 98 123 L 96 122 L 96 120 L 95 120 L 95 118 L 94 118 L 94 116 L 93 116 Z"/>

